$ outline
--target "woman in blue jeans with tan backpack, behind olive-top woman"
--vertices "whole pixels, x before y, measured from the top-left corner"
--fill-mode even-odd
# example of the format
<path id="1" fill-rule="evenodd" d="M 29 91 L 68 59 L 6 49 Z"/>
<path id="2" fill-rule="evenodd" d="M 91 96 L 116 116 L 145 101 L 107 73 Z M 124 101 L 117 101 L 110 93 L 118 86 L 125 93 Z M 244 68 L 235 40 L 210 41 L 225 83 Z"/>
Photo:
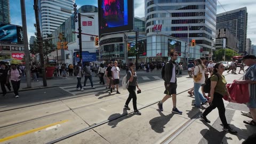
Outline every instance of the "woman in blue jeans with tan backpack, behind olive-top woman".
<path id="1" fill-rule="evenodd" d="M 202 101 L 202 105 L 207 103 L 207 99 L 204 98 L 202 93 L 199 92 L 200 87 L 202 86 L 202 84 L 205 83 L 205 76 L 204 76 L 205 67 L 202 64 L 201 59 L 195 59 L 195 65 L 196 66 L 193 72 L 193 77 L 194 77 L 194 95 L 195 95 L 196 103 L 192 103 L 192 106 L 201 107 L 201 101 Z"/>

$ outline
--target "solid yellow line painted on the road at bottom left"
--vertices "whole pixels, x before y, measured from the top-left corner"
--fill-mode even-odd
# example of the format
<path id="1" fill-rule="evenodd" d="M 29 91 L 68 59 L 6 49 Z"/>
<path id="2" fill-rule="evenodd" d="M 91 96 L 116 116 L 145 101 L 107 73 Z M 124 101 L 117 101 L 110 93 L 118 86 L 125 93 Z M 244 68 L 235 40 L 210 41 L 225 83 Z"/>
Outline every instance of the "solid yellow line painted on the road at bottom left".
<path id="1" fill-rule="evenodd" d="M 9 137 L 0 139 L 0 142 L 6 141 L 6 140 L 10 140 L 10 139 L 14 139 L 14 138 L 17 138 L 17 137 L 21 137 L 22 135 L 33 133 L 33 132 L 36 132 L 36 131 L 39 131 L 39 130 L 46 129 L 47 127 L 51 127 L 51 126 L 62 124 L 62 123 L 66 123 L 66 122 L 68 122 L 68 119 L 66 119 L 64 121 L 52 123 L 52 124 L 49 124 L 49 125 L 41 126 L 41 127 L 36 128 L 36 129 L 33 129 L 33 130 L 28 130 L 28 131 L 25 131 L 25 132 L 21 132 L 21 133 L 18 133 L 18 134 L 11 135 Z"/>

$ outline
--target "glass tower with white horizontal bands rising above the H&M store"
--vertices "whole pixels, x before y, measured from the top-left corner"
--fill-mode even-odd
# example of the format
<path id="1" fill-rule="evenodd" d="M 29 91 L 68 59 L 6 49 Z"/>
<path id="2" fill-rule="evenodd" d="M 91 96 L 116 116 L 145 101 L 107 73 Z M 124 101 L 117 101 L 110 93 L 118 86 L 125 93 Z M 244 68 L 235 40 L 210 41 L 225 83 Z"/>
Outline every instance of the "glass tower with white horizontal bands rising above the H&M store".
<path id="1" fill-rule="evenodd" d="M 217 0 L 146 0 L 146 33 L 167 34 L 186 41 L 189 35 L 189 41 L 195 39 L 204 51 L 211 51 L 215 44 L 216 13 Z M 162 25 L 161 31 L 154 31 L 157 25 Z"/>

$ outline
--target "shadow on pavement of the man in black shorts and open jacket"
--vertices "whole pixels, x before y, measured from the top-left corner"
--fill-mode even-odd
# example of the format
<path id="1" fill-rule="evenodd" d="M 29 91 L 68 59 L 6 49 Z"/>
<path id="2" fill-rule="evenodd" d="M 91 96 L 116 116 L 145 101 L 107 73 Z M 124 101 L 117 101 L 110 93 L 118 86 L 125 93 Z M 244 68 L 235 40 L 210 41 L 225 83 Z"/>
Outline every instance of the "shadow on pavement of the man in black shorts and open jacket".
<path id="1" fill-rule="evenodd" d="M 173 117 L 174 113 L 171 113 L 169 115 L 164 115 L 160 110 L 157 110 L 160 116 L 155 117 L 149 121 L 149 124 L 151 125 L 151 129 L 154 130 L 157 133 L 164 132 L 164 128 L 170 119 Z"/>

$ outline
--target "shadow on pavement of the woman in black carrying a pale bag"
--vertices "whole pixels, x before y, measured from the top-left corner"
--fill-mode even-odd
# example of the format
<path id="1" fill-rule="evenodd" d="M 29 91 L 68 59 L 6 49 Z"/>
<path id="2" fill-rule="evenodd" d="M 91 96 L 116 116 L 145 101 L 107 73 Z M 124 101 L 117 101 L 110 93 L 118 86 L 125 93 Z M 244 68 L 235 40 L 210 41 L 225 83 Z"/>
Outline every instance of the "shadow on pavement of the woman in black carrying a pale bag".
<path id="1" fill-rule="evenodd" d="M 108 117 L 108 121 L 110 121 L 108 122 L 108 125 L 111 126 L 111 128 L 114 128 L 117 126 L 119 122 L 123 121 L 124 119 L 130 118 L 132 116 L 134 116 L 134 114 L 127 115 L 127 110 L 123 109 L 123 114 L 115 113 Z"/>

